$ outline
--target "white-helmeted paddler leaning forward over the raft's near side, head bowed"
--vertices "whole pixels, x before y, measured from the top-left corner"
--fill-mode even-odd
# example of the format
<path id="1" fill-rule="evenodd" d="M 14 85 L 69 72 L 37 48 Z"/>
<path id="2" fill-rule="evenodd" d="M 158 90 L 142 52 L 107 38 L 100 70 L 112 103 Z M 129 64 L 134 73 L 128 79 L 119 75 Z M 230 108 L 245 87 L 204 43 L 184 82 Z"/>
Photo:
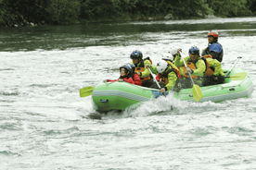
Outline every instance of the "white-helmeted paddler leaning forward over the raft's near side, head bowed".
<path id="1" fill-rule="evenodd" d="M 147 67 L 150 67 L 147 65 Z M 157 63 L 157 66 L 150 67 L 152 73 L 158 74 L 159 76 L 156 78 L 160 83 L 160 92 L 171 91 L 176 85 L 178 74 L 178 68 L 173 65 L 170 61 L 160 60 Z M 150 88 L 159 89 L 158 86 L 153 85 Z"/>

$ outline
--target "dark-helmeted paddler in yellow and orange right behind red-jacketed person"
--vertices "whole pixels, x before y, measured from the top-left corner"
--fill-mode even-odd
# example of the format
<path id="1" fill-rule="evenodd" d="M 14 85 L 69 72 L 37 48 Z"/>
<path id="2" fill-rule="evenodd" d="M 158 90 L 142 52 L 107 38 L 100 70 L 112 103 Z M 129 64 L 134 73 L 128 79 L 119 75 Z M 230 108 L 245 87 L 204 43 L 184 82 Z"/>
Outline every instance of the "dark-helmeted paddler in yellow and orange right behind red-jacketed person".
<path id="1" fill-rule="evenodd" d="M 150 87 L 156 84 L 150 76 L 150 72 L 148 71 L 146 65 L 151 66 L 151 62 L 149 57 L 142 59 L 143 55 L 140 51 L 135 50 L 131 55 L 130 58 L 133 60 L 133 64 L 135 66 L 134 72 L 139 76 L 142 81 L 142 86 Z"/>

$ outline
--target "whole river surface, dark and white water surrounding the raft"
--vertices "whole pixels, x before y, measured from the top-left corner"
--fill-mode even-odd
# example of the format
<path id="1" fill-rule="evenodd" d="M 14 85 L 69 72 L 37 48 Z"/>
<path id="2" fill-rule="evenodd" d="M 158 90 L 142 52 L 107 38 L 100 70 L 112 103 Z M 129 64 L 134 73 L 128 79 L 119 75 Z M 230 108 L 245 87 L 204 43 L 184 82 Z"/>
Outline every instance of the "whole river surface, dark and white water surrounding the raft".
<path id="1" fill-rule="evenodd" d="M 223 67 L 242 56 L 236 67 L 255 86 L 255 17 L 0 28 L 0 169 L 256 169 L 255 91 L 223 103 L 170 95 L 107 115 L 79 97 L 117 79 L 134 50 L 155 64 L 173 45 L 205 48 L 209 30 Z"/>

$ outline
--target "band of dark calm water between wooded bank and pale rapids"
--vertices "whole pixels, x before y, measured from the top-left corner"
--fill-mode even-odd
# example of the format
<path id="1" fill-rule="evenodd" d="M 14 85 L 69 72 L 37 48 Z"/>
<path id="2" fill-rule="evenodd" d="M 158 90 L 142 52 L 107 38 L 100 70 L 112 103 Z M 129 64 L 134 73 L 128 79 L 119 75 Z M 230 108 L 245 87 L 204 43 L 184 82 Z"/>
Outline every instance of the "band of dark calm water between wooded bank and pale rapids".
<path id="1" fill-rule="evenodd" d="M 204 38 L 206 31 L 219 30 L 221 37 L 255 36 L 256 18 L 214 18 L 159 20 L 150 22 L 96 23 L 88 25 L 47 26 L 36 28 L 1 28 L 2 51 L 65 50 L 87 46 L 140 44 L 157 42 L 155 34 L 186 32 L 184 38 Z M 246 30 L 246 31 L 245 31 Z M 148 37 L 152 34 L 152 37 Z M 168 38 L 177 39 L 173 36 Z M 179 37 L 181 38 L 181 37 Z"/>

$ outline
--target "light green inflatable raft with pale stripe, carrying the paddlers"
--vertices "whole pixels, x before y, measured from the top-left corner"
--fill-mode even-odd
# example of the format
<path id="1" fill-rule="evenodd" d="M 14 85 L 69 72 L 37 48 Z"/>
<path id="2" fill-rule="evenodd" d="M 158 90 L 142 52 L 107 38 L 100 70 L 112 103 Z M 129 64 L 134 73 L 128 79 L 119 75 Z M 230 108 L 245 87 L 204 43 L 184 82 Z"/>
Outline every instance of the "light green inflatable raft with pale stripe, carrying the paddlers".
<path id="1" fill-rule="evenodd" d="M 227 72 L 227 70 L 224 71 Z M 224 84 L 205 86 L 199 89 L 203 96 L 199 101 L 200 103 L 207 101 L 218 103 L 225 100 L 249 97 L 253 91 L 253 84 L 243 69 L 234 68 L 229 77 L 225 78 Z M 139 103 L 162 96 L 162 93 L 157 89 L 118 81 L 100 83 L 94 89 L 92 87 L 92 91 L 93 104 L 97 111 L 125 110 L 134 104 L 139 105 Z M 170 92 L 173 92 L 174 97 L 179 98 L 181 101 L 196 102 L 192 89 Z"/>

